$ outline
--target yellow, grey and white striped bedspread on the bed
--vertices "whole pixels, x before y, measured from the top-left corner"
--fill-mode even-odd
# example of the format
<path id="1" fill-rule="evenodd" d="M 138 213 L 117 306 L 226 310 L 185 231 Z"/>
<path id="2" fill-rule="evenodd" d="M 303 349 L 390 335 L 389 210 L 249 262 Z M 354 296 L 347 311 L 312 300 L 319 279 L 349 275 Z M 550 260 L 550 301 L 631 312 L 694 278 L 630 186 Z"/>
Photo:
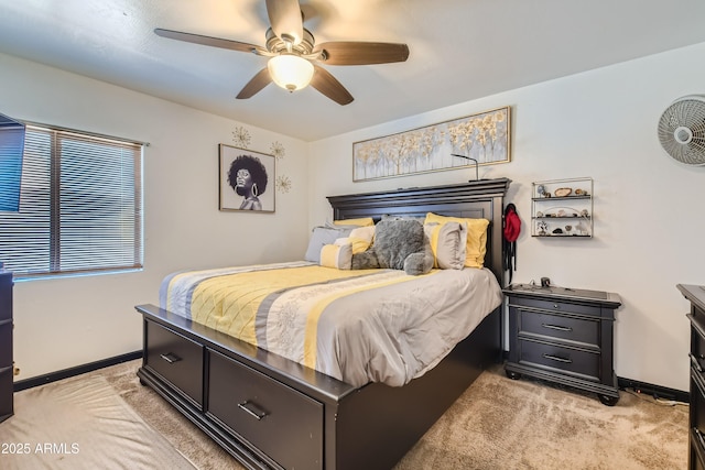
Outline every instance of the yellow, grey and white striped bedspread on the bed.
<path id="1" fill-rule="evenodd" d="M 160 304 L 354 386 L 423 375 L 500 304 L 486 269 L 345 271 L 288 262 L 174 273 Z"/>

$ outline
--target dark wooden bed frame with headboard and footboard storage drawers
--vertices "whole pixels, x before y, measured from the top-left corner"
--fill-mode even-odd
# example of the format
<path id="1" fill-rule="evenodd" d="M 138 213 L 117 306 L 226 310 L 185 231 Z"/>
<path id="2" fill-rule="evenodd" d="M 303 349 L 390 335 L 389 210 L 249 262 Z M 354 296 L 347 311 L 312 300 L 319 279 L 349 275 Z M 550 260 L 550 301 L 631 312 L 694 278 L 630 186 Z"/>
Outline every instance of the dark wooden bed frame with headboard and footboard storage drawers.
<path id="1" fill-rule="evenodd" d="M 336 220 L 427 211 L 490 220 L 486 266 L 503 286 L 507 178 L 330 196 Z M 153 305 L 143 316 L 142 384 L 249 469 L 390 469 L 490 363 L 501 360 L 502 307 L 423 376 L 402 387 L 335 380 Z"/>

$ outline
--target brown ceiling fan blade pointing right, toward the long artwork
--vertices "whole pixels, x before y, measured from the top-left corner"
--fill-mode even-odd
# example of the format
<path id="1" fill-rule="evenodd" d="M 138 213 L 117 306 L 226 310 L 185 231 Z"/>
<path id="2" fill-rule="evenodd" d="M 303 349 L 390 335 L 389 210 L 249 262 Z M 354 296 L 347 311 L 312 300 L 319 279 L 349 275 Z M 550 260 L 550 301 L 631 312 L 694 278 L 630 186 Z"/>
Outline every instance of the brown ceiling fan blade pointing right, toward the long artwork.
<path id="1" fill-rule="evenodd" d="M 404 62 L 409 58 L 409 46 L 397 43 L 367 43 L 334 41 L 318 44 L 313 53 L 323 53 L 326 65 L 369 65 Z"/>

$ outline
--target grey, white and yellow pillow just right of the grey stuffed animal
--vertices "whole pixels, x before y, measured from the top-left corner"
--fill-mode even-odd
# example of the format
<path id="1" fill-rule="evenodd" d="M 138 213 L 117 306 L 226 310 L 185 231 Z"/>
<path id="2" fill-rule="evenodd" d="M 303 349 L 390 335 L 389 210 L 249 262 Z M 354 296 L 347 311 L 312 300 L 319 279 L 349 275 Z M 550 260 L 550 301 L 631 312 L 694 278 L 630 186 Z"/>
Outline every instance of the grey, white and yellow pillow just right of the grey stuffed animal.
<path id="1" fill-rule="evenodd" d="M 425 223 L 423 226 L 431 242 L 434 267 L 442 270 L 462 270 L 467 251 L 467 223 Z"/>

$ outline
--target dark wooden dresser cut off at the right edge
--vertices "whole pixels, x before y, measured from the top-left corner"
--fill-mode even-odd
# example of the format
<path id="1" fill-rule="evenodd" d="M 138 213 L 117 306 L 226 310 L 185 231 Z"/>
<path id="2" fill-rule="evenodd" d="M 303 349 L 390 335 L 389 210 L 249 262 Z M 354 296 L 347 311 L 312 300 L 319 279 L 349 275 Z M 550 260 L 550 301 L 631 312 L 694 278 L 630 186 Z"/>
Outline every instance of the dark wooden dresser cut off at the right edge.
<path id="1" fill-rule="evenodd" d="M 705 286 L 679 284 L 691 303 L 691 406 L 688 463 L 691 470 L 705 469 Z"/>

